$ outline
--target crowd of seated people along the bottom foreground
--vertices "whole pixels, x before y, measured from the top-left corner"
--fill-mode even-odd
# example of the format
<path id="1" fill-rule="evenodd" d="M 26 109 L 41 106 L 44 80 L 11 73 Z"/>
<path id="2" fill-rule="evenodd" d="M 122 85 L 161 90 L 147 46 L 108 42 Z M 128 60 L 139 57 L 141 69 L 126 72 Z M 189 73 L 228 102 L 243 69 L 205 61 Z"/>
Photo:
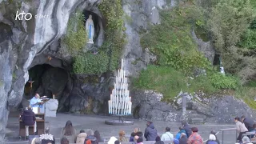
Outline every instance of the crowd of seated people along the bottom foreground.
<path id="1" fill-rule="evenodd" d="M 234 118 L 236 122 L 237 130 L 239 133 L 238 143 L 239 144 L 252 144 L 250 138 L 244 135 L 247 131 L 256 131 L 256 124 L 252 124 L 250 119 L 242 116 L 242 121 L 240 118 Z M 253 121 L 252 121 L 253 122 Z M 248 126 L 248 128 L 246 127 Z M 32 144 L 55 144 L 54 136 L 49 134 L 50 129 L 46 128 L 46 134 L 42 134 L 40 138 L 34 138 Z M 126 133 L 120 130 L 118 133 L 118 138 L 111 137 L 107 142 L 108 144 L 120 144 L 122 142 L 133 142 L 134 144 L 143 144 L 145 141 L 155 141 L 155 144 L 164 144 L 168 142 L 170 144 L 203 144 L 203 139 L 200 134 L 198 134 L 197 127 L 191 127 L 187 122 L 182 122 L 182 126 L 179 127 L 178 134 L 170 133 L 170 127 L 166 127 L 165 133 L 160 137 L 158 131 L 154 127 L 153 122 L 146 122 L 146 129 L 144 134 L 139 128 L 135 128 L 134 132 L 130 134 L 130 138 L 126 138 Z M 66 126 L 62 129 L 61 144 L 98 144 L 103 142 L 103 139 L 98 130 L 80 130 L 76 134 L 76 130 L 72 126 L 72 122 L 67 121 Z M 205 141 L 206 144 L 220 144 L 216 133 L 214 131 L 210 132 L 209 139 Z"/>

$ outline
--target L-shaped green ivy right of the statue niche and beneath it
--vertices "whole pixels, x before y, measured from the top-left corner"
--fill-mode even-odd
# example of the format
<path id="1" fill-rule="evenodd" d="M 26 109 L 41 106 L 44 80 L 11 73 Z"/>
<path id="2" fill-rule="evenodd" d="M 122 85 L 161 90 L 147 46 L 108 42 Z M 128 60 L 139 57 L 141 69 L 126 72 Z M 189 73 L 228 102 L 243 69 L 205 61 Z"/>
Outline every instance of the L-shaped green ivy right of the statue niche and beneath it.
<path id="1" fill-rule="evenodd" d="M 79 54 L 74 58 L 75 74 L 102 74 L 118 68 L 120 54 L 126 44 L 126 35 L 123 33 L 125 27 L 122 19 L 122 1 L 103 0 L 98 7 L 106 18 L 106 39 L 99 48 L 98 54 Z"/>

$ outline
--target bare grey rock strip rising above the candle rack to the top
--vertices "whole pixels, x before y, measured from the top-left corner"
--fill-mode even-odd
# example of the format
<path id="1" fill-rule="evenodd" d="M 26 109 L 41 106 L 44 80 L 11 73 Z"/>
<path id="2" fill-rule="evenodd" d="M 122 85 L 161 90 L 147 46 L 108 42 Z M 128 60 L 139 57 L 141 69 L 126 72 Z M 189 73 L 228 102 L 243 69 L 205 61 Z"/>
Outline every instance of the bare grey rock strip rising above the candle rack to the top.
<path id="1" fill-rule="evenodd" d="M 149 24 L 160 24 L 159 10 L 170 9 L 176 6 L 176 0 L 124 0 L 123 10 L 126 14 L 125 25 L 127 44 L 122 55 L 125 58 L 127 76 L 136 76 L 146 65 L 156 60 L 154 54 L 142 50 L 140 34 L 145 33 Z"/>

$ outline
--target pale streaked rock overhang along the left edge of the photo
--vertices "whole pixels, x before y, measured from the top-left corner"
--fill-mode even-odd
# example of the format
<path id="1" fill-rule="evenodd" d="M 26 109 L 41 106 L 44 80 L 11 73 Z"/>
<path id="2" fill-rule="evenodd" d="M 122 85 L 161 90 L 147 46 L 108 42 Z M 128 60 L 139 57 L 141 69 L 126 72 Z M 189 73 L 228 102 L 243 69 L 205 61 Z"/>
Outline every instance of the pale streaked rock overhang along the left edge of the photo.
<path id="1" fill-rule="evenodd" d="M 75 9 L 90 9 L 98 0 L 2 1 L 0 0 L 0 141 L 10 107 L 22 100 L 24 84 L 29 79 L 28 68 L 36 55 L 58 41 L 66 32 L 70 13 Z M 16 13 L 30 15 L 16 18 Z M 45 18 L 39 18 L 39 17 Z M 16 18 L 16 19 L 15 19 Z"/>

